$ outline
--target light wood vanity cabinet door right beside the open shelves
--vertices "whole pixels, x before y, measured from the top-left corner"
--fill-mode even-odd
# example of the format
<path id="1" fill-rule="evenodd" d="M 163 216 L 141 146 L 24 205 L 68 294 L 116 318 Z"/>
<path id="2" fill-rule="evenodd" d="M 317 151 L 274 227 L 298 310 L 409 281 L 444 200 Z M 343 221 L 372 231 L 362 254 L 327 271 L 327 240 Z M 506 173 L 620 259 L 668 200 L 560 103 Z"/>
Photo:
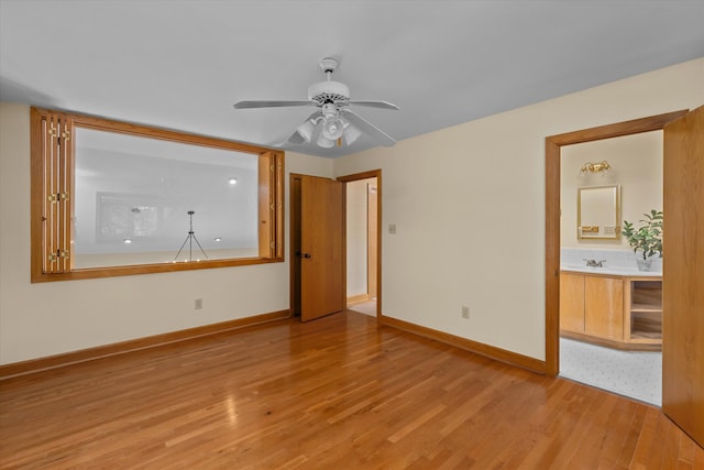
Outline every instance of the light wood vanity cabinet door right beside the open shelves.
<path id="1" fill-rule="evenodd" d="M 584 332 L 600 338 L 624 339 L 624 281 L 584 278 Z"/>

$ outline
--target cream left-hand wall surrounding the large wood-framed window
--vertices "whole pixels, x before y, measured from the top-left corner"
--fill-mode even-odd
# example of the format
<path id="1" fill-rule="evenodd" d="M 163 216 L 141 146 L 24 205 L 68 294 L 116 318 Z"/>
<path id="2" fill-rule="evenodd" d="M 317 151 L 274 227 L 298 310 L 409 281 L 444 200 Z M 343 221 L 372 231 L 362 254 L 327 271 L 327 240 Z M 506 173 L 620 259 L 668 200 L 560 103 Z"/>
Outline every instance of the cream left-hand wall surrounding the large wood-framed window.
<path id="1" fill-rule="evenodd" d="M 287 153 L 286 170 L 288 185 L 288 172 L 331 176 L 332 162 Z M 0 223 L 2 364 L 289 306 L 288 262 L 31 284 L 30 108 L 24 105 L 0 103 Z M 202 298 L 202 309 L 194 309 L 195 298 Z"/>

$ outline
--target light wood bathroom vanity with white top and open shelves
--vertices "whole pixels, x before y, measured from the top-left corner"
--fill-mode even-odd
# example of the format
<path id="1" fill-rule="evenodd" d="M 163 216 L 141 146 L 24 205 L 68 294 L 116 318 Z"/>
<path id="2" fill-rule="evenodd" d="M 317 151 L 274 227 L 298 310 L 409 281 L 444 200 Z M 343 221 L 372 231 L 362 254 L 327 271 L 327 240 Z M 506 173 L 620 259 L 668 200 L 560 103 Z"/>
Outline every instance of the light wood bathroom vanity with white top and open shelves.
<path id="1" fill-rule="evenodd" d="M 661 273 L 563 266 L 560 335 L 617 349 L 661 350 Z"/>

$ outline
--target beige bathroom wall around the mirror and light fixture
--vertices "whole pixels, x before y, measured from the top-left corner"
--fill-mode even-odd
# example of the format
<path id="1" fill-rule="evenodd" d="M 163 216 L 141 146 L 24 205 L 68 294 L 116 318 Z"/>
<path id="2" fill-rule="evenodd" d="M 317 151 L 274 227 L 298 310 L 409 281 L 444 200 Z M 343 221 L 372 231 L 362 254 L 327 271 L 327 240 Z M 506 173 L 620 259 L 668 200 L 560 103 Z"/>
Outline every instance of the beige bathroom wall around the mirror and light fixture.
<path id="1" fill-rule="evenodd" d="M 579 187 L 620 185 L 622 217 L 629 222 L 650 209 L 662 210 L 662 131 L 565 145 L 561 149 L 561 228 L 563 248 L 629 250 L 626 240 L 578 239 L 576 195 Z M 580 175 L 585 162 L 608 161 L 606 174 Z"/>

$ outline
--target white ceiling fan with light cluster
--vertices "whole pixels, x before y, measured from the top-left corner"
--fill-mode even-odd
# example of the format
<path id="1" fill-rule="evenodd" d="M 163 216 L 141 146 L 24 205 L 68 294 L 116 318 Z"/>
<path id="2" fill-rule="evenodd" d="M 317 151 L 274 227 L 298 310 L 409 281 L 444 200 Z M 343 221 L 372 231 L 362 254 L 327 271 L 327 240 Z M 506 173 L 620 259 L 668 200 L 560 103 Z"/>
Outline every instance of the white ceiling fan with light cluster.
<path id="1" fill-rule="evenodd" d="M 238 101 L 234 108 L 317 107 L 318 110 L 298 125 L 288 138 L 290 143 L 311 142 L 315 138 L 315 142 L 322 147 L 331 147 L 336 143 L 342 145 L 343 141 L 350 145 L 362 132 L 365 132 L 386 146 L 394 145 L 396 141 L 391 135 L 352 111 L 350 105 L 392 110 L 398 110 L 398 107 L 388 101 L 351 101 L 350 87 L 331 79 L 332 73 L 339 65 L 340 62 L 333 57 L 324 57 L 320 61 L 320 68 L 326 74 L 327 80 L 315 83 L 308 88 L 308 101 Z"/>

